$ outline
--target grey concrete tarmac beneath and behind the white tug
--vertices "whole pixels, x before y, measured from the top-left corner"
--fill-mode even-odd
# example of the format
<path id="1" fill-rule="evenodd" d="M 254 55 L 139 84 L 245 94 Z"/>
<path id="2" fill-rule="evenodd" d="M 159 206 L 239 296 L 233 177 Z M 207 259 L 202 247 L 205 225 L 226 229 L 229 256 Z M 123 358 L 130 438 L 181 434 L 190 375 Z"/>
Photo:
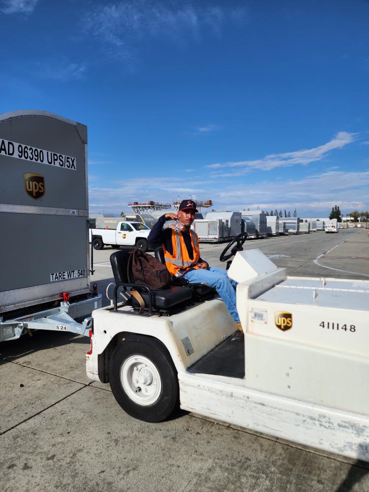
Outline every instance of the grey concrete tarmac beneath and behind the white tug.
<path id="1" fill-rule="evenodd" d="M 367 232 L 245 248 L 260 248 L 290 275 L 369 279 Z M 224 266 L 224 246 L 201 245 L 201 255 Z M 100 291 L 112 281 L 111 252 L 94 251 Z M 160 424 L 129 417 L 108 385 L 87 378 L 88 349 L 88 338 L 53 332 L 0 344 L 1 491 L 369 491 L 369 463 L 184 412 Z"/>

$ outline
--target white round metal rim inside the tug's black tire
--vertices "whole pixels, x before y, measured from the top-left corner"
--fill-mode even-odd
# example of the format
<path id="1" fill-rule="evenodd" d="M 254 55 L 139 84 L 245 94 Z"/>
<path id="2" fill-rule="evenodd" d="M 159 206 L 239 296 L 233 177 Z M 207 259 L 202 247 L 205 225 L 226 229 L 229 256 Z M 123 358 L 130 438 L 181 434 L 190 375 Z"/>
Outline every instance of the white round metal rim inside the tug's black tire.
<path id="1" fill-rule="evenodd" d="M 121 383 L 127 396 L 142 406 L 153 405 L 161 394 L 156 366 L 143 355 L 131 355 L 122 364 Z"/>

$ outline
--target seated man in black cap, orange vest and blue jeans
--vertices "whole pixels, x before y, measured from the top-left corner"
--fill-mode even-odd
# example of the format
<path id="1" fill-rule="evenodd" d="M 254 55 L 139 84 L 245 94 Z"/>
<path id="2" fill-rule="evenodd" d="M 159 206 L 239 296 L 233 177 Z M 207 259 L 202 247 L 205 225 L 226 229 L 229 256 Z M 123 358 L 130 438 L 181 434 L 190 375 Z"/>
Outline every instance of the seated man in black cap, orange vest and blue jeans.
<path id="1" fill-rule="evenodd" d="M 228 277 L 226 270 L 209 267 L 200 257 L 197 234 L 190 228 L 195 219 L 195 212 L 196 203 L 183 200 L 178 214 L 169 213 L 158 219 L 148 240 L 150 243 L 162 243 L 165 264 L 172 277 L 184 277 L 190 283 L 205 282 L 214 287 L 236 321 L 238 329 L 242 331 L 236 308 L 237 283 Z M 163 229 L 166 220 L 178 220 L 179 226 Z"/>

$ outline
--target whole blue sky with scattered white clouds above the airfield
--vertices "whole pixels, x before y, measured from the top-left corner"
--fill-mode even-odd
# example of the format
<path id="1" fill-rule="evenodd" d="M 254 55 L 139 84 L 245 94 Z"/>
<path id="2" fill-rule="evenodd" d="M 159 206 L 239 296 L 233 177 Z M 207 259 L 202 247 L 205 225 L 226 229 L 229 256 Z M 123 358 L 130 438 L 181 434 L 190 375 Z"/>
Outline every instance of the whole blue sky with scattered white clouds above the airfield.
<path id="1" fill-rule="evenodd" d="M 0 112 L 87 124 L 92 212 L 369 210 L 369 1 L 0 0 L 0 38 Z"/>

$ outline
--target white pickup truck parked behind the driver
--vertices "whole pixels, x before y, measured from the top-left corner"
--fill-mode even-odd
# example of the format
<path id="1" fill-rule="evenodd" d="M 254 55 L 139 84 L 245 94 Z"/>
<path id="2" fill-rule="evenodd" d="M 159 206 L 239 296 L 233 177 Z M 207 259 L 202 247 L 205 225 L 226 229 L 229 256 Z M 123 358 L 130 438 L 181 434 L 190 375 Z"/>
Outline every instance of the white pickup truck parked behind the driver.
<path id="1" fill-rule="evenodd" d="M 141 222 L 119 222 L 117 229 L 90 229 L 90 243 L 94 249 L 102 249 L 105 245 L 113 247 L 136 246 L 141 251 L 149 247 L 150 229 Z"/>

